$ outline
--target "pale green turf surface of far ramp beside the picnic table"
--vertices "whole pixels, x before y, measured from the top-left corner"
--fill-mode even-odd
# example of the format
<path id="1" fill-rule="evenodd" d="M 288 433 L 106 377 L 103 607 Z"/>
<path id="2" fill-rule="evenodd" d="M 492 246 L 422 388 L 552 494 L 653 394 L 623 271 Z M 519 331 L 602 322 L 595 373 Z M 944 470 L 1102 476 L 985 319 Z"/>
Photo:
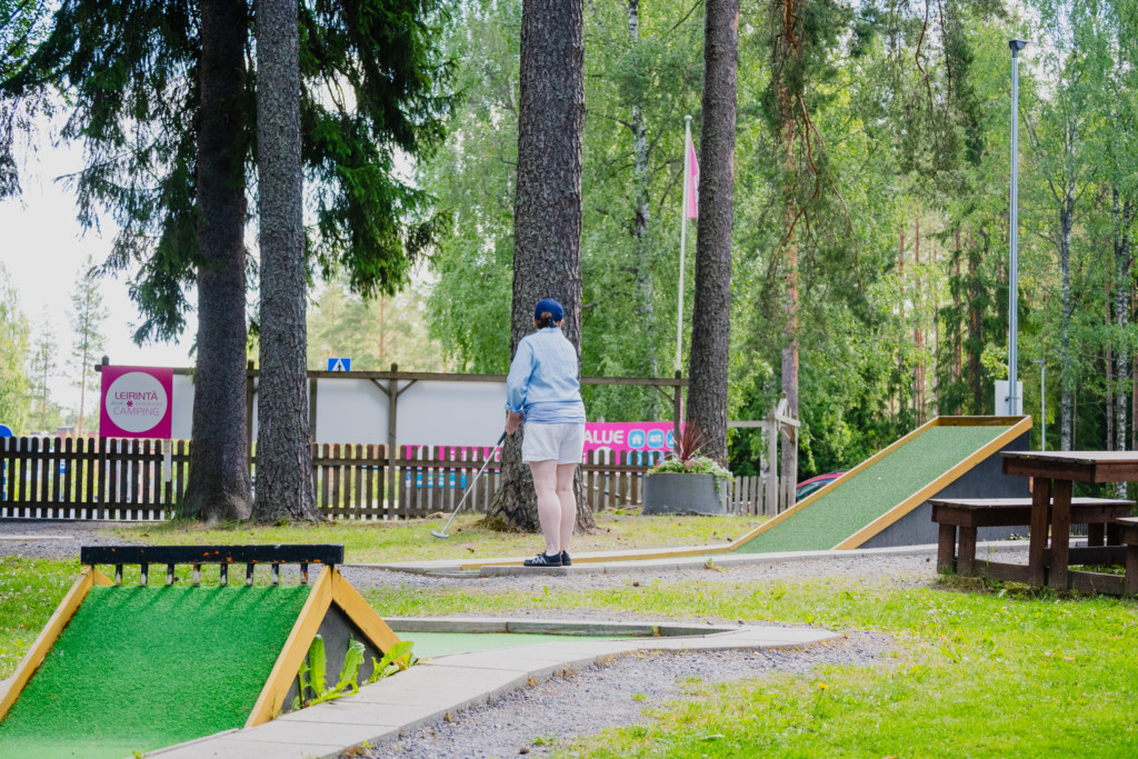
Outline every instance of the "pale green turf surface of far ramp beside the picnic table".
<path id="1" fill-rule="evenodd" d="M 736 551 L 828 551 L 1009 429 L 931 427 Z"/>

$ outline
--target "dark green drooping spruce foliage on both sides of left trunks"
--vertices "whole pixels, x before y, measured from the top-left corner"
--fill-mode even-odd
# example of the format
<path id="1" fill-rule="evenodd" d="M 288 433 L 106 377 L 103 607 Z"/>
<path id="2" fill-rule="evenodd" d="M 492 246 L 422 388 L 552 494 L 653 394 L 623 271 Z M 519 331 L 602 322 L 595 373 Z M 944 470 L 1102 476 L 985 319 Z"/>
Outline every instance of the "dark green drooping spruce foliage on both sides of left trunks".
<path id="1" fill-rule="evenodd" d="M 138 341 L 182 331 L 185 289 L 200 263 L 199 20 L 193 5 L 64 3 L 48 39 L 0 79 L 0 96 L 13 98 L 64 83 L 72 110 L 63 138 L 81 141 L 88 155 L 72 178 L 80 221 L 93 228 L 105 212 L 119 228 L 100 271 L 132 272 L 131 297 L 143 314 Z M 251 43 L 253 14 L 247 20 Z M 394 294 L 411 259 L 445 229 L 429 193 L 401 178 L 396 160 L 428 155 L 442 138 L 453 106 L 451 64 L 438 49 L 447 24 L 447 6 L 436 0 L 300 8 L 302 159 L 314 220 L 307 250 L 314 270 L 343 271 L 365 297 Z M 234 149 L 247 184 L 255 86 L 247 76 L 245 96 L 230 104 L 245 112 Z M 251 258 L 249 267 L 255 274 Z"/>

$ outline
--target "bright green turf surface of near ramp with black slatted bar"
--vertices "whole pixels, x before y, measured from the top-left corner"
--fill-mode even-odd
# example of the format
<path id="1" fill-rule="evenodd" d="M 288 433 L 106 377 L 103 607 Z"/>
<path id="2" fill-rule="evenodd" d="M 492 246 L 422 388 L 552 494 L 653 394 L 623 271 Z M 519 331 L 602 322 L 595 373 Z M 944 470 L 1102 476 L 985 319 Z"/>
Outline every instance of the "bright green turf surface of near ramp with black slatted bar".
<path id="1" fill-rule="evenodd" d="M 0 754 L 122 759 L 241 727 L 310 589 L 91 588 L 0 723 Z"/>

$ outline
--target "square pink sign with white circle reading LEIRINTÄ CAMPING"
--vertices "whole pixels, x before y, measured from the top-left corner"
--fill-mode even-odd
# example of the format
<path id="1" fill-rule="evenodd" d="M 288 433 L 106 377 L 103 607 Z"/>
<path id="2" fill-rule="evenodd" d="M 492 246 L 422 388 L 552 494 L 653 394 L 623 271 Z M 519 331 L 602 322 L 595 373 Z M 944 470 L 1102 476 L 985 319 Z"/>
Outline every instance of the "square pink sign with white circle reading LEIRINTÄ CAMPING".
<path id="1" fill-rule="evenodd" d="M 173 369 L 104 365 L 99 437 L 168 438 L 173 399 Z"/>

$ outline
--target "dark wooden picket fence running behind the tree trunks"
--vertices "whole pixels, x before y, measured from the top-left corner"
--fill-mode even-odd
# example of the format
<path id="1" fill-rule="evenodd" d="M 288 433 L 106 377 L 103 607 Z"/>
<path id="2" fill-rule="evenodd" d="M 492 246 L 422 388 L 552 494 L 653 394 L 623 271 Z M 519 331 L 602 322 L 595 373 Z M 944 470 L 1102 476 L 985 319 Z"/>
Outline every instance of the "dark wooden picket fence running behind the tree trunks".
<path id="1" fill-rule="evenodd" d="M 313 485 L 329 519 L 409 519 L 453 511 L 493 448 L 403 446 L 395 460 L 395 497 L 388 497 L 387 446 L 312 446 Z M 593 511 L 637 509 L 651 457 L 589 453 L 582 467 Z M 187 440 L 0 438 L 0 519 L 171 518 L 185 493 Z M 256 461 L 253 464 L 256 487 Z M 463 504 L 485 512 L 498 488 L 495 462 Z M 758 477 L 735 478 L 732 513 L 773 515 L 776 508 Z"/>

